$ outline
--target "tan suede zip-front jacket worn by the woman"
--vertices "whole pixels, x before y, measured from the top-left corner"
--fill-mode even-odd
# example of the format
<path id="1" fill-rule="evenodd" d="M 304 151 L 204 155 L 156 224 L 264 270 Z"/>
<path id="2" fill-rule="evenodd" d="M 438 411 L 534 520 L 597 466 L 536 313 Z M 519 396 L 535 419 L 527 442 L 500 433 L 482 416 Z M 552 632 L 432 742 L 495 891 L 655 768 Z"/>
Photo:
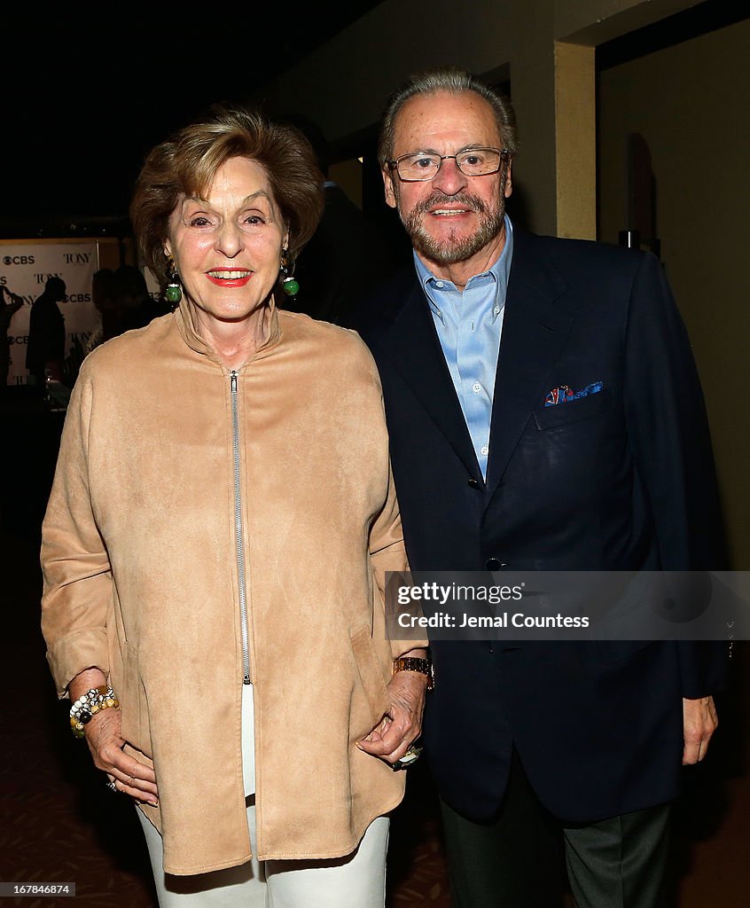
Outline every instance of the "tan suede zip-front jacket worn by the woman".
<path id="1" fill-rule="evenodd" d="M 167 873 L 349 854 L 404 774 L 355 745 L 389 706 L 386 570 L 406 568 L 380 380 L 353 331 L 276 311 L 240 370 L 179 310 L 94 350 L 44 518 L 42 627 L 60 696 L 100 667 L 152 761 Z M 247 620 L 243 620 L 246 612 Z"/>

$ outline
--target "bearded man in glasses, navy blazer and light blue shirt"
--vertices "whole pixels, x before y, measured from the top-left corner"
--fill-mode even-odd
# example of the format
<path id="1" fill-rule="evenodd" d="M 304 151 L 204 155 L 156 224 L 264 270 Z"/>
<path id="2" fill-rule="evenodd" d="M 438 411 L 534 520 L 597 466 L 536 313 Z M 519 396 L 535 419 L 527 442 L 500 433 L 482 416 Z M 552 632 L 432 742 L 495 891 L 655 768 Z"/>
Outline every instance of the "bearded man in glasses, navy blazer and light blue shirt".
<path id="1" fill-rule="evenodd" d="M 516 151 L 508 99 L 452 67 L 413 78 L 383 123 L 413 264 L 351 324 L 380 368 L 410 566 L 722 568 L 703 397 L 662 267 L 521 231 L 505 212 Z M 547 908 L 553 841 L 580 908 L 659 904 L 724 648 L 436 638 L 432 658 L 423 739 L 454 904 Z"/>

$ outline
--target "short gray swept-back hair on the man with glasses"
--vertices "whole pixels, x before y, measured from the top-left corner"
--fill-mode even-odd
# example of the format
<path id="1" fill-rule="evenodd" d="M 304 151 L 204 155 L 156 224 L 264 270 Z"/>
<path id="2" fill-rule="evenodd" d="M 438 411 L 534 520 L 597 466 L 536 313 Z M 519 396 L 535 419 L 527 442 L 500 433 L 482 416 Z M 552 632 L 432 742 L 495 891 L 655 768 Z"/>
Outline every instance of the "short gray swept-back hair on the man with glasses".
<path id="1" fill-rule="evenodd" d="M 511 154 L 518 151 L 518 132 L 516 128 L 516 112 L 510 99 L 500 92 L 490 88 L 488 84 L 460 69 L 459 66 L 440 66 L 437 69 L 425 70 L 412 75 L 406 84 L 390 95 L 390 100 L 383 114 L 383 123 L 380 128 L 380 142 L 378 143 L 378 161 L 384 167 L 393 155 L 393 142 L 396 133 L 396 118 L 401 107 L 413 98 L 415 94 L 463 94 L 474 92 L 484 98 L 495 114 L 495 122 L 503 141 L 503 147 Z"/>

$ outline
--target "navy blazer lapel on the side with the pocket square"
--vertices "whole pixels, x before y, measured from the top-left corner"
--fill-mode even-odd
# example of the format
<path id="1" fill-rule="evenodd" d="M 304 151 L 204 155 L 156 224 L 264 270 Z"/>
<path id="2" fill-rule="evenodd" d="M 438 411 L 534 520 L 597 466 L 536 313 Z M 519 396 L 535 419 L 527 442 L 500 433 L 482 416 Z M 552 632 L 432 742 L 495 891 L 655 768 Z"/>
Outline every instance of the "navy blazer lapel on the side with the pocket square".
<path id="1" fill-rule="evenodd" d="M 570 314 L 553 305 L 565 281 L 534 255 L 532 243 L 528 235 L 514 235 L 489 432 L 488 502 L 532 411 L 549 390 L 549 376 L 573 324 Z"/>

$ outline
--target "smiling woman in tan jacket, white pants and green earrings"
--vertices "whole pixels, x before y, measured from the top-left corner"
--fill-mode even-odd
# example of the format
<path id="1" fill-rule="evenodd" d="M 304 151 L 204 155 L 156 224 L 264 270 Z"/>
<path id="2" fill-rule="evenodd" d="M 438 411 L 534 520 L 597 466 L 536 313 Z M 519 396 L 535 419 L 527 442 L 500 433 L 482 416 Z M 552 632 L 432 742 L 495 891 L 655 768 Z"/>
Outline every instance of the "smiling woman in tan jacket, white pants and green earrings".
<path id="1" fill-rule="evenodd" d="M 131 215 L 179 305 L 94 350 L 66 416 L 48 659 L 162 906 L 384 903 L 429 661 L 385 633 L 406 563 L 375 365 L 277 305 L 321 209 L 310 145 L 258 114 L 154 148 Z"/>

